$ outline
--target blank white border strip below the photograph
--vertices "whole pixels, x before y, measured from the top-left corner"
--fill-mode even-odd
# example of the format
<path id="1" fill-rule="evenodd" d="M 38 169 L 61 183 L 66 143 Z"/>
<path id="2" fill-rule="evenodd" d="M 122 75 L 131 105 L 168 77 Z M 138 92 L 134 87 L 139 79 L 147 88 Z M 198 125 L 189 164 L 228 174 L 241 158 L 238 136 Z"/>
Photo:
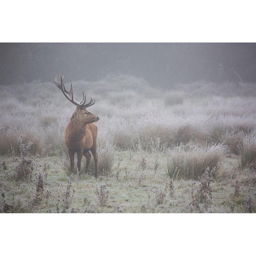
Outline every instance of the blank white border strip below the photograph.
<path id="1" fill-rule="evenodd" d="M 254 214 L 2 214 L 7 255 L 249 255 Z"/>

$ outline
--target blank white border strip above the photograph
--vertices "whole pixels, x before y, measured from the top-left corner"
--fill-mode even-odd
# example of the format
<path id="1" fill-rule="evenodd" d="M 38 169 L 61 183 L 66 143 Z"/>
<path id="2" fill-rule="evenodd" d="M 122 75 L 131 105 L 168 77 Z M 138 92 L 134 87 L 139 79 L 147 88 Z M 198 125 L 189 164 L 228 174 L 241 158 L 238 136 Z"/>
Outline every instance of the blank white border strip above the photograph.
<path id="1" fill-rule="evenodd" d="M 1 42 L 255 42 L 254 1 L 5 1 Z"/>

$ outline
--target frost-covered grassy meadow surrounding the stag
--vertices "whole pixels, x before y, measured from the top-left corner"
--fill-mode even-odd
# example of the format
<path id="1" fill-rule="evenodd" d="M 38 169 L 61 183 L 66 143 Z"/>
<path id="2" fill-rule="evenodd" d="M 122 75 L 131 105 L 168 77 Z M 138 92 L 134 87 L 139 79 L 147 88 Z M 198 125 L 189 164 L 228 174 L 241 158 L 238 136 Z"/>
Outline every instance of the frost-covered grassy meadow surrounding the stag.
<path id="1" fill-rule="evenodd" d="M 75 106 L 53 82 L 0 86 L 0 211 L 256 212 L 255 84 L 171 87 L 127 75 L 73 81 L 100 118 L 99 178 L 83 158 L 78 180 L 63 140 Z"/>

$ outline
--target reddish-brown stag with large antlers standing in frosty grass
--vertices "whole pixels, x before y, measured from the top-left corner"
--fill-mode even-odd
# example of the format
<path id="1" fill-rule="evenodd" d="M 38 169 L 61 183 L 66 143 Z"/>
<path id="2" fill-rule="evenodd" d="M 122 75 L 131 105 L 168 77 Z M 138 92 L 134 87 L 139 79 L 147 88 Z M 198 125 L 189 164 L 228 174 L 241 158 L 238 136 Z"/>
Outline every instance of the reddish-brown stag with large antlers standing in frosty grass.
<path id="1" fill-rule="evenodd" d="M 83 93 L 82 101 L 78 102 L 73 96 L 72 82 L 70 90 L 67 91 L 63 83 L 64 76 L 60 76 L 60 83 L 57 81 L 57 76 L 54 79 L 55 85 L 62 91 L 65 97 L 76 105 L 76 110 L 70 118 L 64 132 L 64 141 L 68 149 L 70 158 L 71 173 L 74 171 L 74 158 L 77 154 L 77 169 L 78 179 L 81 177 L 81 161 L 83 156 L 86 158 L 85 172 L 88 172 L 88 167 L 93 155 L 95 162 L 95 178 L 98 177 L 98 154 L 97 154 L 97 133 L 98 127 L 93 124 L 99 121 L 99 117 L 90 113 L 86 108 L 94 105 L 95 100 L 91 98 L 88 103 L 86 102 L 86 95 Z"/>

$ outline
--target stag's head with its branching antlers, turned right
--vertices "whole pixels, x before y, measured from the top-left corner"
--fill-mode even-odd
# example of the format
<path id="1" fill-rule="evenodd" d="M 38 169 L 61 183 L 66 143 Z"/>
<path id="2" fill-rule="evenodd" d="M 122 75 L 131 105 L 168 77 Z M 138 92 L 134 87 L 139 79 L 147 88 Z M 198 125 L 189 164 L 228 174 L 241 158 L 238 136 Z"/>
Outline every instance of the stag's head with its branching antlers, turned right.
<path id="1" fill-rule="evenodd" d="M 65 97 L 72 102 L 74 105 L 76 105 L 76 111 L 74 112 L 72 117 L 75 117 L 76 120 L 83 124 L 90 124 L 99 121 L 99 117 L 92 114 L 91 112 L 87 111 L 86 108 L 94 105 L 95 100 L 91 98 L 91 100 L 88 103 L 86 102 L 86 95 L 83 93 L 83 99 L 82 101 L 78 102 L 74 99 L 73 96 L 73 86 L 72 82 L 70 85 L 70 90 L 67 91 L 65 88 L 65 85 L 63 83 L 64 76 L 60 76 L 60 83 L 57 81 L 57 76 L 55 77 L 54 83 L 55 85 L 62 91 L 62 93 L 65 95 Z"/>

